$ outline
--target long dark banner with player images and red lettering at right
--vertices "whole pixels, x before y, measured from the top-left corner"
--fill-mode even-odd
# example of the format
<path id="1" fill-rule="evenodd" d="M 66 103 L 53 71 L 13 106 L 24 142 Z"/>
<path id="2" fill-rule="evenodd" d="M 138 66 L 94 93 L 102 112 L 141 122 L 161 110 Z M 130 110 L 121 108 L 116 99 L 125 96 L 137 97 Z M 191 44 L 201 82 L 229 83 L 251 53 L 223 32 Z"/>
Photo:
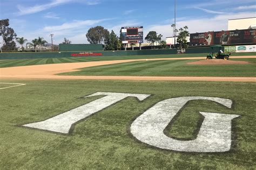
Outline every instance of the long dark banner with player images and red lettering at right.
<path id="1" fill-rule="evenodd" d="M 190 34 L 190 46 L 256 43 L 256 29 Z"/>

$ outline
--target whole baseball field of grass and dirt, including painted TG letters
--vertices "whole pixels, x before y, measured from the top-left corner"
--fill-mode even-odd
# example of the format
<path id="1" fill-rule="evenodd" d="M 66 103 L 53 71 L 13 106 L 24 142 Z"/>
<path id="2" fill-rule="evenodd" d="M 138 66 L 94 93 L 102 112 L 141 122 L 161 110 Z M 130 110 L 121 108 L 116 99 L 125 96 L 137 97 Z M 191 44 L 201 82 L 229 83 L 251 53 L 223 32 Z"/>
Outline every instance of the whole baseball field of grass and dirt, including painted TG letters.
<path id="1" fill-rule="evenodd" d="M 204 58 L 0 60 L 0 169 L 255 169 L 256 54 Z"/>

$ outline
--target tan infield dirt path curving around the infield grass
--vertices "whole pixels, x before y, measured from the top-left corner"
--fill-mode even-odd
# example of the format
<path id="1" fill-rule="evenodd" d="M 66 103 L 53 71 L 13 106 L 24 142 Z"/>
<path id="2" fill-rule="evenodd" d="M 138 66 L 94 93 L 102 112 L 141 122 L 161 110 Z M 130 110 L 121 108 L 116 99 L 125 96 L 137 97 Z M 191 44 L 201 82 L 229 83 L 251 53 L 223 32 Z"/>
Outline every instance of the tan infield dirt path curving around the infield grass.
<path id="1" fill-rule="evenodd" d="M 232 58 L 256 58 L 256 56 L 234 56 Z M 0 68 L 0 78 L 11 79 L 102 79 L 102 80 L 186 80 L 186 81 L 244 81 L 256 82 L 256 77 L 168 77 L 168 76 L 58 76 L 55 74 L 77 71 L 79 68 L 145 60 L 205 59 L 205 57 L 129 59 L 83 63 L 46 64 Z"/>

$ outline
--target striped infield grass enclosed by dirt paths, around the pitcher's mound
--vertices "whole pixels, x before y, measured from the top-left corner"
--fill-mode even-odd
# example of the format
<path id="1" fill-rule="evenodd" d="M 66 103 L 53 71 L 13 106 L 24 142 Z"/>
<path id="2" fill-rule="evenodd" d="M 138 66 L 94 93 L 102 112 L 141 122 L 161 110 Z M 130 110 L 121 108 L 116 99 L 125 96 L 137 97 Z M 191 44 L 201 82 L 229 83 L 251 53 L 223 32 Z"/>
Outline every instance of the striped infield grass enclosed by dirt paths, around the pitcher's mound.
<path id="1" fill-rule="evenodd" d="M 86 67 L 76 72 L 62 73 L 75 76 L 256 76 L 256 58 L 243 60 L 251 64 L 187 65 L 197 60 L 154 60 Z"/>

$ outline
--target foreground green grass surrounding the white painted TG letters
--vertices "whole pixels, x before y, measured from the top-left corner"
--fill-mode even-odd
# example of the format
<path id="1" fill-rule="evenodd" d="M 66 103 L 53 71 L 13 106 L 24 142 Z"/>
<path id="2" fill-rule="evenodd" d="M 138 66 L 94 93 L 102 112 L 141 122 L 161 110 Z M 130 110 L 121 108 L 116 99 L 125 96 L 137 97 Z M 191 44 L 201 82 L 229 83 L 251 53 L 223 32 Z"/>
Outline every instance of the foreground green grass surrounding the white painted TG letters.
<path id="1" fill-rule="evenodd" d="M 175 63 L 175 62 L 174 62 Z M 255 169 L 255 83 L 4 80 L 24 86 L 0 90 L 0 169 Z M 144 101 L 126 98 L 80 121 L 71 135 L 18 125 L 42 121 L 100 97 L 95 92 L 152 94 Z M 233 101 L 226 108 L 211 101 L 190 101 L 165 133 L 193 139 L 199 111 L 239 114 L 232 121 L 231 151 L 186 153 L 150 147 L 129 132 L 132 121 L 161 100 L 221 97 Z"/>

